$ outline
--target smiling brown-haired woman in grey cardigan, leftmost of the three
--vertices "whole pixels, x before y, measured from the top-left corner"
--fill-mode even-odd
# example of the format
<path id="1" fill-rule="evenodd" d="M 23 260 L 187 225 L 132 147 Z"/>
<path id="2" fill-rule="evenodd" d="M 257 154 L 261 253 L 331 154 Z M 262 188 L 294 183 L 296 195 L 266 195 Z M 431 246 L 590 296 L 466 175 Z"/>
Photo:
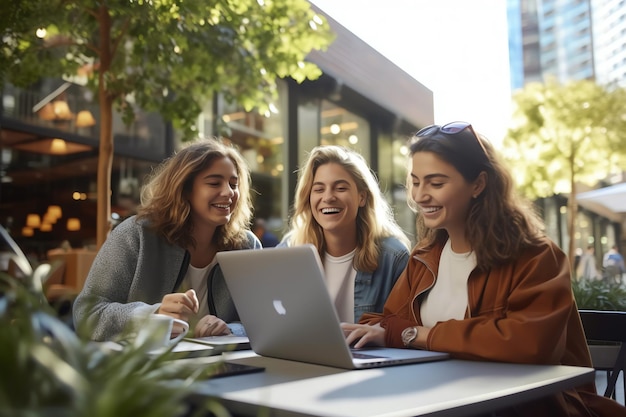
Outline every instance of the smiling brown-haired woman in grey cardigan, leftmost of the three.
<path id="1" fill-rule="evenodd" d="M 153 171 L 137 215 L 102 245 L 74 304 L 76 328 L 111 340 L 133 318 L 161 313 L 189 322 L 196 337 L 245 334 L 215 254 L 261 248 L 251 217 L 237 150 L 217 139 L 187 145 Z"/>

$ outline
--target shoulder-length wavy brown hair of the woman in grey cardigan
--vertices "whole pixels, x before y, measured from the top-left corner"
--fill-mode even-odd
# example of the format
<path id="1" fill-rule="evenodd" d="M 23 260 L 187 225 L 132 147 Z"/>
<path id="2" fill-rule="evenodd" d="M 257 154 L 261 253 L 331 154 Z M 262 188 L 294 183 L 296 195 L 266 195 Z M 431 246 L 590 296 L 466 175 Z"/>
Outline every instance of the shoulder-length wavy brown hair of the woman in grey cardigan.
<path id="1" fill-rule="evenodd" d="M 218 250 L 243 247 L 252 219 L 250 171 L 237 149 L 219 139 L 192 142 L 157 166 L 141 190 L 137 218 L 147 219 L 150 227 L 171 244 L 195 246 L 191 206 L 185 195 L 191 192 L 196 176 L 221 158 L 235 165 L 239 199 L 230 221 L 216 229 L 213 241 Z"/>

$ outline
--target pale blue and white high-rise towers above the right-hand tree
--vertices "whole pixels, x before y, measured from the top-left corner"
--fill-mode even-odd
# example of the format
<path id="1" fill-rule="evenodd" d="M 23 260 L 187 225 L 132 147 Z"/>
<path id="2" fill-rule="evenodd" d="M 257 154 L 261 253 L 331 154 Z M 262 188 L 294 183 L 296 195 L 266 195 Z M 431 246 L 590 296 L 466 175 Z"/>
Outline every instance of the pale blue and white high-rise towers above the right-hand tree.
<path id="1" fill-rule="evenodd" d="M 508 0 L 513 90 L 533 81 L 626 86 L 625 0 Z"/>

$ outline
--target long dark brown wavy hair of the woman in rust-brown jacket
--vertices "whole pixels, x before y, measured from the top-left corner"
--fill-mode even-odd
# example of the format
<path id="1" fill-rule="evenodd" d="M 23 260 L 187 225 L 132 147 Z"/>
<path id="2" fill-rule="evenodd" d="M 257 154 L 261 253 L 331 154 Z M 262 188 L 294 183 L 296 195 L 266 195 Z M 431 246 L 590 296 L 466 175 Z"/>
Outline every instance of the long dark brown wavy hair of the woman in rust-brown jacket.
<path id="1" fill-rule="evenodd" d="M 444 134 L 414 136 L 409 149 L 407 188 L 411 187 L 412 157 L 418 152 L 434 153 L 454 166 L 468 182 L 474 181 L 481 172 L 487 174 L 485 189 L 470 202 L 465 221 L 465 237 L 480 269 L 488 270 L 515 258 L 522 248 L 539 243 L 545 236 L 544 224 L 536 209 L 516 192 L 511 174 L 484 137 L 473 134 L 471 139 Z M 445 242 L 448 233 L 444 229 L 427 228 L 410 193 L 407 197 L 409 207 L 417 213 L 416 248 L 428 250 L 436 242 Z"/>

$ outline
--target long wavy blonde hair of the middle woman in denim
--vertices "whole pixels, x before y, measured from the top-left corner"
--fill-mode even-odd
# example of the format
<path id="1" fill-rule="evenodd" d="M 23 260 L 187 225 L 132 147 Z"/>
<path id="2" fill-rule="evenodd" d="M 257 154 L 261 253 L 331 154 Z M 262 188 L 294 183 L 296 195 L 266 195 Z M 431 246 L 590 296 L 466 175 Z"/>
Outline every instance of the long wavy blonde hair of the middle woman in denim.
<path id="1" fill-rule="evenodd" d="M 409 239 L 396 223 L 393 211 L 382 194 L 375 174 L 365 159 L 355 151 L 335 145 L 317 146 L 309 154 L 305 165 L 299 170 L 290 231 L 286 239 L 291 245 L 313 244 L 320 256 L 326 251 L 324 231 L 313 217 L 310 195 L 317 169 L 335 163 L 343 167 L 356 183 L 357 190 L 366 194 L 365 206 L 357 213 L 357 247 L 354 268 L 372 272 L 378 267 L 380 243 L 385 237 L 394 236 L 407 248 Z"/>

